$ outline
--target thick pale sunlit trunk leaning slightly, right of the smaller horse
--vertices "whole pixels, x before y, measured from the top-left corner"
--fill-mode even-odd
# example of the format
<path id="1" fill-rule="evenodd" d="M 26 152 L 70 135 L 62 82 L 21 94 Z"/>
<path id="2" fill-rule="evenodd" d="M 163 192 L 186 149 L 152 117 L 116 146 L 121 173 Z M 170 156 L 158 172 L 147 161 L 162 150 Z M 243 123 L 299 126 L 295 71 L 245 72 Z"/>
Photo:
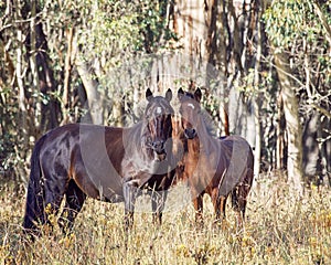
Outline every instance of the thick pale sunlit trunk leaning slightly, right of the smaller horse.
<path id="1" fill-rule="evenodd" d="M 291 70 L 288 66 L 286 55 L 284 53 L 274 53 L 274 55 L 281 86 L 281 98 L 288 135 L 288 182 L 299 195 L 302 195 L 302 128 L 299 120 L 299 103 L 296 89 L 289 77 Z"/>

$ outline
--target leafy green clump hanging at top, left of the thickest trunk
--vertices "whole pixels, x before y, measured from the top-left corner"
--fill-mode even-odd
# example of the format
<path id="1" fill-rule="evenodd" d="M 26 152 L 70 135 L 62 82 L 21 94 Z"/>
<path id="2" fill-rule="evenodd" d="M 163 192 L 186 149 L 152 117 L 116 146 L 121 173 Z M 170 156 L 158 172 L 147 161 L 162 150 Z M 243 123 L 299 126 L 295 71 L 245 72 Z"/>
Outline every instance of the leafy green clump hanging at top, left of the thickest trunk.
<path id="1" fill-rule="evenodd" d="M 103 70 L 118 66 L 135 53 L 156 52 L 162 36 L 173 38 L 164 23 L 166 1 L 83 1 L 78 42 L 88 57 L 107 57 Z M 167 32 L 166 34 L 163 34 Z M 149 52 L 150 52 L 149 51 Z"/>

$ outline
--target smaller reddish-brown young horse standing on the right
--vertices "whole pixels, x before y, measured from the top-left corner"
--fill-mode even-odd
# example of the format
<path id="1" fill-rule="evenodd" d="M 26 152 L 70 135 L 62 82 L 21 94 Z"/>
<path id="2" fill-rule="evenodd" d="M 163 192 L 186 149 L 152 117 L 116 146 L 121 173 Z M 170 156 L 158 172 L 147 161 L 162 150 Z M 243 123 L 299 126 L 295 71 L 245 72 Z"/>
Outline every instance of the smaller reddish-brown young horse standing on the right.
<path id="1" fill-rule="evenodd" d="M 178 92 L 182 132 L 185 136 L 184 169 L 179 178 L 189 181 L 196 221 L 202 221 L 204 193 L 212 199 L 216 220 L 221 219 L 221 213 L 222 219 L 225 218 L 226 198 L 231 193 L 237 222 L 242 226 L 254 178 L 253 151 L 239 136 L 217 139 L 210 134 L 200 106 L 201 96 L 199 88 L 194 95 L 181 88 Z"/>

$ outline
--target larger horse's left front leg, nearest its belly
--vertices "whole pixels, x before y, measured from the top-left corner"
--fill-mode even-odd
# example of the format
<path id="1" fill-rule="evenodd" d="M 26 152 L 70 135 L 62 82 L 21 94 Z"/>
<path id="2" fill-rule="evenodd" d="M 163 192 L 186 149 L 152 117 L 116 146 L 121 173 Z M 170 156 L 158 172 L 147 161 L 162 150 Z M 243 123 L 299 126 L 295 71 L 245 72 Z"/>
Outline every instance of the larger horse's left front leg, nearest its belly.
<path id="1" fill-rule="evenodd" d="M 125 181 L 122 191 L 125 199 L 125 229 L 128 231 L 134 224 L 134 212 L 138 188 L 134 180 Z"/>

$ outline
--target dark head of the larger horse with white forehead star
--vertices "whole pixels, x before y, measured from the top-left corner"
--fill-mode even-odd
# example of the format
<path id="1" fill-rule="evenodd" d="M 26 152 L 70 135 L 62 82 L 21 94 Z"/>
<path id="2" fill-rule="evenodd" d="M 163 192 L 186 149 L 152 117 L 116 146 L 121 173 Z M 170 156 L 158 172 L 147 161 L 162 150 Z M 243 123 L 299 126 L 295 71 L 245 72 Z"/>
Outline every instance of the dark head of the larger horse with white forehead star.
<path id="1" fill-rule="evenodd" d="M 173 108 L 170 105 L 172 92 L 169 88 L 166 97 L 153 96 L 148 88 L 146 91 L 148 105 L 145 112 L 145 121 L 148 131 L 148 146 L 152 149 L 157 160 L 164 160 L 167 156 L 166 142 L 171 138 L 172 124 L 171 117 Z"/>

